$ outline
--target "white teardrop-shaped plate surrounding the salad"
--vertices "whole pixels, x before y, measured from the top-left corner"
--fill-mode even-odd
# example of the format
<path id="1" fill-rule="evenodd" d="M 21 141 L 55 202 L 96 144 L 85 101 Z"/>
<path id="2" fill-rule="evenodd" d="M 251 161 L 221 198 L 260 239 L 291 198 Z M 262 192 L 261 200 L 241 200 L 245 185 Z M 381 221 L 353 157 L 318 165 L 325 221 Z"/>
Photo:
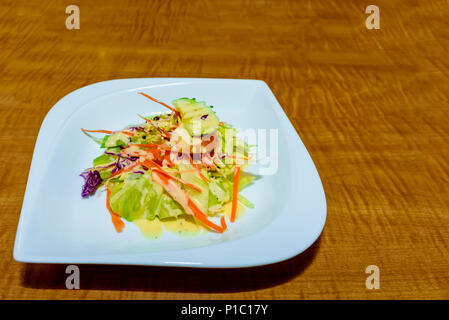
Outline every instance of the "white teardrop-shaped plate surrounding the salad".
<path id="1" fill-rule="evenodd" d="M 137 113 L 165 111 L 136 94 L 138 91 L 165 102 L 196 97 L 213 105 L 219 118 L 236 128 L 276 131 L 277 170 L 243 191 L 255 208 L 247 209 L 227 232 L 191 238 L 165 232 L 157 240 L 148 240 L 133 223 L 125 222 L 124 232 L 116 233 L 105 206 L 105 193 L 81 198 L 83 181 L 79 174 L 99 152 L 98 145 L 80 128 L 119 129 L 139 122 Z M 247 171 L 260 170 L 260 166 Z M 34 149 L 14 259 L 34 263 L 250 267 L 301 253 L 318 238 L 325 220 L 326 200 L 317 170 L 265 82 L 112 80 L 70 93 L 45 117 Z"/>

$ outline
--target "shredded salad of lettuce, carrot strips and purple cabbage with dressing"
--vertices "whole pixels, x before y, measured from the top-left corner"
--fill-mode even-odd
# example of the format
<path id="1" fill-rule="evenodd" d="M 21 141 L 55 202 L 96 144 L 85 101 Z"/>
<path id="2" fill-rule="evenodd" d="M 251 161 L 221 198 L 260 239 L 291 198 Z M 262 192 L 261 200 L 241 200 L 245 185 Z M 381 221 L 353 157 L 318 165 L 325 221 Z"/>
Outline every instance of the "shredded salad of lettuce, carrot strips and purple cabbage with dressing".
<path id="1" fill-rule="evenodd" d="M 117 232 L 125 226 L 123 219 L 185 215 L 209 231 L 224 232 L 226 205 L 231 206 L 230 222 L 235 221 L 237 202 L 254 207 L 239 194 L 255 178 L 243 172 L 250 164 L 251 146 L 205 102 L 180 98 L 171 107 L 139 94 L 170 112 L 138 115 L 143 123 L 117 131 L 81 129 L 103 150 L 81 173 L 81 196 L 105 189 L 106 207 Z"/>

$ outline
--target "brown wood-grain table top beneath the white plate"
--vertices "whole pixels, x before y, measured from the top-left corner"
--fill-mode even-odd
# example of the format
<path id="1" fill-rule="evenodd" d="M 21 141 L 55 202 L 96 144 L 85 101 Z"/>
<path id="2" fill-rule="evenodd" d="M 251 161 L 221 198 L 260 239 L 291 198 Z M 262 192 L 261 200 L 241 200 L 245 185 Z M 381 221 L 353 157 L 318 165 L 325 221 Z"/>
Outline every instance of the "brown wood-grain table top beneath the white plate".
<path id="1" fill-rule="evenodd" d="M 0 4 L 3 299 L 449 298 L 449 23 L 445 1 L 60 1 Z M 48 110 L 98 81 L 268 83 L 323 181 L 328 219 L 305 253 L 241 270 L 15 262 L 34 143 Z M 380 268 L 380 289 L 365 268 Z"/>

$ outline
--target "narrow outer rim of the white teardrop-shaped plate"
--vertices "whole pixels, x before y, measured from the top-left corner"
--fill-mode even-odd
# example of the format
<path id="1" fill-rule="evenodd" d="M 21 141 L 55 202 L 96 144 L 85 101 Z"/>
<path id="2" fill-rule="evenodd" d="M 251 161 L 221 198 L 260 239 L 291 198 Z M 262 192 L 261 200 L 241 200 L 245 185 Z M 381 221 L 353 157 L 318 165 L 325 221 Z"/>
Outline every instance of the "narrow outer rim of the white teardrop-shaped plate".
<path id="1" fill-rule="evenodd" d="M 145 262 L 145 257 L 149 257 L 150 253 L 130 253 L 130 254 L 112 254 L 112 255 L 101 255 L 98 257 L 92 257 L 92 256 L 76 256 L 74 258 L 70 257 L 49 257 L 49 256 L 43 256 L 43 255 L 36 255 L 36 254 L 27 254 L 22 244 L 23 239 L 23 224 L 24 220 L 26 219 L 27 215 L 30 215 L 30 211 L 28 208 L 28 203 L 30 202 L 30 197 L 32 196 L 33 188 L 31 187 L 32 181 L 37 180 L 37 173 L 36 173 L 36 167 L 38 162 L 42 162 L 42 148 L 41 145 L 46 141 L 46 135 L 48 135 L 48 127 L 52 119 L 57 117 L 61 113 L 65 113 L 66 116 L 64 119 L 67 119 L 70 117 L 70 115 L 73 112 L 76 112 L 76 109 L 85 104 L 89 101 L 99 98 L 101 96 L 105 96 L 110 93 L 114 93 L 118 90 L 135 90 L 137 88 L 149 88 L 149 87 L 160 87 L 164 85 L 177 85 L 177 84 L 183 84 L 183 83 L 193 83 L 193 82 L 253 82 L 261 86 L 264 91 L 268 94 L 269 99 L 271 100 L 270 106 L 274 108 L 273 111 L 276 112 L 278 116 L 281 117 L 280 119 L 280 126 L 284 126 L 284 129 L 286 130 L 286 135 L 294 136 L 295 142 L 294 145 L 297 145 L 299 148 L 304 148 L 306 156 L 308 157 L 308 161 L 312 165 L 312 170 L 314 170 L 314 175 L 317 178 L 317 183 L 319 193 L 320 193 L 320 210 L 319 212 L 319 220 L 315 225 L 315 230 L 313 232 L 313 235 L 309 237 L 309 241 L 305 241 L 303 245 L 301 245 L 299 248 L 296 248 L 294 250 L 284 250 L 281 251 L 283 254 L 278 254 L 275 257 L 267 257 L 267 258 L 258 258 L 258 259 L 248 259 L 246 263 L 214 263 L 214 262 L 198 262 L 194 261 L 194 259 L 190 261 L 176 261 L 173 259 L 154 259 L 154 257 L 150 256 L 150 259 L 153 259 L 153 261 L 147 261 Z M 161 83 L 164 82 L 164 83 Z M 124 84 L 122 84 L 124 83 Z M 142 83 L 143 86 L 139 87 L 136 86 L 136 84 Z M 151 84 L 152 83 L 152 84 Z M 159 83 L 159 84 L 158 84 Z M 129 84 L 128 86 L 126 84 Z M 72 108 L 69 111 L 69 108 L 67 106 L 71 105 L 71 102 L 74 99 L 82 98 L 83 101 L 76 103 L 72 103 Z M 64 109 L 65 108 L 65 109 Z M 63 110 L 64 109 L 64 110 Z M 291 140 L 287 139 L 287 143 L 290 145 L 292 144 Z M 42 170 L 43 171 L 43 170 Z M 290 192 L 292 192 L 290 190 Z M 290 199 L 289 199 L 290 200 Z M 318 215 L 318 213 L 316 213 Z M 324 225 L 327 219 L 327 202 L 326 202 L 326 196 L 322 184 L 321 177 L 319 176 L 318 170 L 316 168 L 315 163 L 313 162 L 313 159 L 310 156 L 309 151 L 305 147 L 302 139 L 300 138 L 298 132 L 294 129 L 291 121 L 288 119 L 287 115 L 285 114 L 282 106 L 277 101 L 276 97 L 274 96 L 272 90 L 267 85 L 265 81 L 262 80 L 256 80 L 256 79 L 225 79 L 225 78 L 128 78 L 128 79 L 114 79 L 114 80 L 106 80 L 101 82 L 96 82 L 93 84 L 86 85 L 84 87 L 81 87 L 79 89 L 76 89 L 67 95 L 65 95 L 63 98 L 61 98 L 59 101 L 56 102 L 56 104 L 48 111 L 46 116 L 44 117 L 39 133 L 35 142 L 35 147 L 33 150 L 33 156 L 30 164 L 30 170 L 28 173 L 27 183 L 26 183 L 26 189 L 25 194 L 22 202 L 22 208 L 20 212 L 20 218 L 17 226 L 16 231 L 16 237 L 14 241 L 14 249 L 13 249 L 13 258 L 14 260 L 18 262 L 25 262 L 25 263 L 54 263 L 54 264 L 101 264 L 101 265 L 141 265 L 141 266 L 172 266 L 172 267 L 198 267 L 198 268 L 245 268 L 245 267 L 255 267 L 255 266 L 262 266 L 267 264 L 273 264 L 281 261 L 288 260 L 296 255 L 301 254 L 305 250 L 307 250 L 321 235 Z M 258 230 L 257 232 L 250 234 L 246 237 L 235 239 L 232 241 L 234 244 L 241 244 L 242 241 L 248 241 L 248 239 L 253 238 L 257 234 L 259 234 L 262 230 L 267 229 L 270 225 L 273 223 L 279 223 L 279 220 L 282 219 L 274 219 L 271 221 L 267 226 L 263 227 L 261 230 Z M 240 242 L 240 243 L 238 243 Z M 171 254 L 168 254 L 168 256 L 173 255 L 173 253 L 179 253 L 179 252 L 188 252 L 188 251 L 209 251 L 204 250 L 205 248 L 216 248 L 217 250 L 223 250 L 223 246 L 228 247 L 229 250 L 229 242 L 223 242 L 219 244 L 214 244 L 212 246 L 205 246 L 205 247 L 196 247 L 196 248 L 189 248 L 189 249 L 182 249 L 182 250 L 174 250 L 171 251 Z M 231 246 L 232 247 L 232 246 Z M 291 248 L 290 248 L 291 249 Z M 162 251 L 167 252 L 167 251 Z M 134 260 L 133 260 L 134 258 Z M 129 261 L 125 261 L 129 260 Z M 185 259 L 184 259 L 185 260 Z"/>

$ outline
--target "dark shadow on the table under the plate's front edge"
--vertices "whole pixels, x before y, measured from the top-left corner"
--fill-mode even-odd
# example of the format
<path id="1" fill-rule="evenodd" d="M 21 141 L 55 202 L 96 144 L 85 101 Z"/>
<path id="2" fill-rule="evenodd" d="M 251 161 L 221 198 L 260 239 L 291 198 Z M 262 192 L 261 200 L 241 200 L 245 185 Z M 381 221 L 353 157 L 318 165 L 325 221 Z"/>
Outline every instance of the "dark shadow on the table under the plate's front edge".
<path id="1" fill-rule="evenodd" d="M 227 293 L 273 287 L 301 275 L 314 260 L 321 236 L 288 260 L 240 269 L 78 265 L 82 290 Z M 26 264 L 22 285 L 66 289 L 65 264 Z"/>

